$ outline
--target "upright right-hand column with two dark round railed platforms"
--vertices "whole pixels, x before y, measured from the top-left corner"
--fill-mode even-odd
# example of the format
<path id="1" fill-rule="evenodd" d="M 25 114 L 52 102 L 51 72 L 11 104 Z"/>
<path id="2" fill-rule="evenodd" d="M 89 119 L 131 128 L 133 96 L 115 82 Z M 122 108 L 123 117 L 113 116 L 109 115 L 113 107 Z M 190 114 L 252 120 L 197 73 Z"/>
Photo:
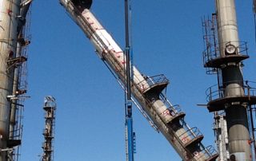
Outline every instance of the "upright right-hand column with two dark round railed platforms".
<path id="1" fill-rule="evenodd" d="M 247 47 L 238 38 L 234 0 L 215 3 L 218 42 L 206 45 L 204 61 L 206 68 L 218 71 L 218 85 L 208 89 L 207 107 L 210 112 L 223 110 L 226 114 L 230 159 L 252 160 L 246 110 L 256 100 L 254 88 L 242 76 L 242 61 L 249 58 Z"/>

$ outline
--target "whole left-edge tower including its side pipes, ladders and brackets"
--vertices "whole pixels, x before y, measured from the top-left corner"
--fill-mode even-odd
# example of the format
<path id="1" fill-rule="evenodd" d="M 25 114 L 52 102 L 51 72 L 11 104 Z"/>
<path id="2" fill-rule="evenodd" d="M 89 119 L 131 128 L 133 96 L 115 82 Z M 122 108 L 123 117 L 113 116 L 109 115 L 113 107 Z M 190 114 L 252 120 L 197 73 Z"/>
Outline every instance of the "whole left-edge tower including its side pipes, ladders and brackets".
<path id="1" fill-rule="evenodd" d="M 30 3 L 31 0 L 0 1 L 0 161 L 18 160 L 19 156 Z"/>

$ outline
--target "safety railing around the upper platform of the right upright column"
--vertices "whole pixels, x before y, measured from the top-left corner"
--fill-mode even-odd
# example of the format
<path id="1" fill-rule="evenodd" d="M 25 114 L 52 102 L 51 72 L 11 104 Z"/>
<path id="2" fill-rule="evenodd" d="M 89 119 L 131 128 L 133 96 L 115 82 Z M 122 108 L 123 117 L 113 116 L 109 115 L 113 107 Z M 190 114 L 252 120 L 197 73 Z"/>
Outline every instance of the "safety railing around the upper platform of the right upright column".
<path id="1" fill-rule="evenodd" d="M 226 49 L 227 46 L 237 44 L 238 46 L 235 46 L 236 48 L 236 55 L 243 55 L 248 56 L 248 48 L 247 48 L 247 42 L 246 41 L 227 41 L 222 43 L 221 46 L 216 46 L 212 44 L 208 44 L 207 48 L 203 51 L 203 63 L 204 65 L 212 61 L 214 59 L 217 59 L 218 57 L 221 57 L 220 52 L 222 49 Z"/>

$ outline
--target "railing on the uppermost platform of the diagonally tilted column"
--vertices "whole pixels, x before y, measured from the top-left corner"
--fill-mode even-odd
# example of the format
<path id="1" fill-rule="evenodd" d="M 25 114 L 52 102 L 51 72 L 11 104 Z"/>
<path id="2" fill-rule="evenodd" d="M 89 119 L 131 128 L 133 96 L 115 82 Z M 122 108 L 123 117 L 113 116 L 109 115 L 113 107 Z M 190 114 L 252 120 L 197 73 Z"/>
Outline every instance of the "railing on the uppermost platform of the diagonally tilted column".
<path id="1" fill-rule="evenodd" d="M 148 90 L 149 88 L 151 88 L 152 86 L 154 86 L 156 84 L 168 84 L 169 83 L 169 80 L 163 74 L 159 74 L 159 75 L 153 76 L 153 77 L 147 77 L 147 76 L 143 76 L 143 77 L 145 78 L 145 80 L 138 83 L 138 87 L 146 87 L 146 88 L 141 88 L 142 92 Z"/>

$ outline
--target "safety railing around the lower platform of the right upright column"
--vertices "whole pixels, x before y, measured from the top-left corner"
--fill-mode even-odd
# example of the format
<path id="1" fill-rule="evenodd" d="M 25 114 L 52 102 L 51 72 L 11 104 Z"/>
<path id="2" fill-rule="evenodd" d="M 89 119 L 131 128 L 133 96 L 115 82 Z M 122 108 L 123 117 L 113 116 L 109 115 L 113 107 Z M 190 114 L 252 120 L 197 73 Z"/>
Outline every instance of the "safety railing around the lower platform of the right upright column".
<path id="1" fill-rule="evenodd" d="M 229 84 L 234 84 L 234 87 L 228 87 L 228 90 L 236 91 L 235 95 L 225 96 L 225 92 L 227 91 L 227 86 Z M 237 85 L 235 85 L 237 84 Z M 206 100 L 210 102 L 212 100 L 221 99 L 224 97 L 236 97 L 236 96 L 255 96 L 256 88 L 252 87 L 250 84 L 255 84 L 256 82 L 252 81 L 230 81 L 223 83 L 222 86 L 218 86 L 218 84 L 211 86 L 206 89 Z"/>

